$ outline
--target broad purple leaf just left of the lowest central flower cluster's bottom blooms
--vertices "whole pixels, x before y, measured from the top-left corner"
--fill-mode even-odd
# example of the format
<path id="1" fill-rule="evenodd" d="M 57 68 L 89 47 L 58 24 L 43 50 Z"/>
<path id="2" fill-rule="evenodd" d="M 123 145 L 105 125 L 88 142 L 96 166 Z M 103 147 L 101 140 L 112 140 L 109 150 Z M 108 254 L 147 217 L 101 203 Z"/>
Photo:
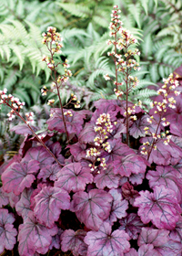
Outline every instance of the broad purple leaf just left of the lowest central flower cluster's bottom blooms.
<path id="1" fill-rule="evenodd" d="M 57 178 L 55 186 L 66 189 L 68 193 L 85 190 L 86 184 L 93 182 L 90 168 L 82 167 L 80 163 L 66 165 L 59 171 Z"/>

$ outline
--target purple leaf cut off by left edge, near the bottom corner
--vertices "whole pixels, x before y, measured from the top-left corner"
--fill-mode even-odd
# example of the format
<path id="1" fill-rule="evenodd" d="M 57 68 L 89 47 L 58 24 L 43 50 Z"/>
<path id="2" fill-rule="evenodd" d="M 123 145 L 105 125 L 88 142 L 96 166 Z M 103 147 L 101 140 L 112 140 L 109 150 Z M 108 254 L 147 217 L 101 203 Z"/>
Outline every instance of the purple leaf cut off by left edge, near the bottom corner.
<path id="1" fill-rule="evenodd" d="M 0 253 L 4 250 L 13 250 L 17 231 L 12 224 L 15 221 L 13 214 L 6 208 L 0 208 Z"/>

